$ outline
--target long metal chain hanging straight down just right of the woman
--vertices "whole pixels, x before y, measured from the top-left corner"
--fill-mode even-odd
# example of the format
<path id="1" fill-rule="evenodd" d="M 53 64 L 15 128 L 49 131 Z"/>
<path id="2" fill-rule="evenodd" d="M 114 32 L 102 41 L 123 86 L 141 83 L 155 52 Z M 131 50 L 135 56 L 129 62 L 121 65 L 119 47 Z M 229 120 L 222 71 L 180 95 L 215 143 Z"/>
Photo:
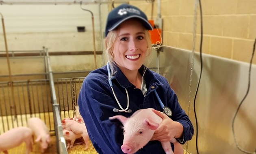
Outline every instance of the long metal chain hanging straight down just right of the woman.
<path id="1" fill-rule="evenodd" d="M 190 113 L 190 103 L 191 103 L 191 83 L 192 83 L 192 74 L 194 70 L 194 54 L 195 54 L 195 40 L 196 40 L 196 26 L 197 26 L 197 2 L 198 0 L 195 0 L 195 6 L 194 6 L 194 23 L 193 23 L 193 43 L 192 43 L 192 56 L 191 56 L 191 63 L 190 63 L 190 84 L 189 84 L 189 107 L 188 107 L 188 116 Z M 186 143 L 186 154 L 188 154 L 188 141 Z"/>

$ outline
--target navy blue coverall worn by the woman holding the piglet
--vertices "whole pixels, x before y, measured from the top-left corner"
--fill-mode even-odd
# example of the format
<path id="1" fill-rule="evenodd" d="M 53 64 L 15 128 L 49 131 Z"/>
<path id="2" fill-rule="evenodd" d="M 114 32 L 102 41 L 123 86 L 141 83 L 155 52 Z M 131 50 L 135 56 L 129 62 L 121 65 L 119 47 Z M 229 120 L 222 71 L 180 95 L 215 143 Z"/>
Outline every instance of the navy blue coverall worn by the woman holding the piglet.
<path id="1" fill-rule="evenodd" d="M 141 66 L 139 72 L 143 74 Z M 123 154 L 121 145 L 124 139 L 122 124 L 118 120 L 108 120 L 109 117 L 115 115 L 123 115 L 129 117 L 135 111 L 145 108 L 154 108 L 163 111 L 159 101 L 154 94 L 154 90 L 158 93 L 163 104 L 172 111 L 171 119 L 180 122 L 184 128 L 183 141 L 184 144 L 190 140 L 194 133 L 194 128 L 184 110 L 178 103 L 178 98 L 169 86 L 167 79 L 154 71 L 146 70 L 144 81 L 148 92 L 145 97 L 140 89 L 135 88 L 128 81 L 126 76 L 117 67 L 113 89 L 121 106 L 127 107 L 127 96 L 125 88 L 128 90 L 131 113 L 113 112 L 114 108 L 120 109 L 113 92 L 108 84 L 107 67 L 98 68 L 85 78 L 78 97 L 78 106 L 82 118 L 85 121 L 89 138 L 93 143 L 95 150 L 99 154 Z M 150 141 L 143 149 L 136 154 L 165 154 L 159 141 Z"/>

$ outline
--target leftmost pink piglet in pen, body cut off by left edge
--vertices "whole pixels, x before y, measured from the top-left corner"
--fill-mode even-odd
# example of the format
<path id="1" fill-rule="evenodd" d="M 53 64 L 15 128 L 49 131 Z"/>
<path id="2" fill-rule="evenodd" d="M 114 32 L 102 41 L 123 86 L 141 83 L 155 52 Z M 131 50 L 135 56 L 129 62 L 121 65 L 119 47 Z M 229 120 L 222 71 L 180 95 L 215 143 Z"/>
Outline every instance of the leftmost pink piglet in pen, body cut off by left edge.
<path id="1" fill-rule="evenodd" d="M 9 149 L 26 143 L 26 154 L 32 151 L 32 130 L 27 127 L 13 128 L 0 135 L 0 153 L 8 154 Z"/>

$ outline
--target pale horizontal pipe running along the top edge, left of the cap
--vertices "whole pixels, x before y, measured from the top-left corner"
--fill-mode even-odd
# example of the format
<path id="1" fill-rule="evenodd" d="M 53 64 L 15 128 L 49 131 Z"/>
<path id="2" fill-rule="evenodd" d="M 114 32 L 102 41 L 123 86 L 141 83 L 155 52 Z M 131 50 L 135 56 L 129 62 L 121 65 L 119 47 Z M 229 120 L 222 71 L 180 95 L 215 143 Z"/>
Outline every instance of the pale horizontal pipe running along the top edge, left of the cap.
<path id="1" fill-rule="evenodd" d="M 129 1 L 144 1 L 144 0 L 115 0 L 115 3 L 128 3 Z M 109 4 L 112 3 L 111 0 L 82 0 L 83 3 L 86 4 Z M 0 4 L 21 4 L 21 5 L 27 5 L 27 4 L 80 4 L 80 0 L 0 0 Z"/>

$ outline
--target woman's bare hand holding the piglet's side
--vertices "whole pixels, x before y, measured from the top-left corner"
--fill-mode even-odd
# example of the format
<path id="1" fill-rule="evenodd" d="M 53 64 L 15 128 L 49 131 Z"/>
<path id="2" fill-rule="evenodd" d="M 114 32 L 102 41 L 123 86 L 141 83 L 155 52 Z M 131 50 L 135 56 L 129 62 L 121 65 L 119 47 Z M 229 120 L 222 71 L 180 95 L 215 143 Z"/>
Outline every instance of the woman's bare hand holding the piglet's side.
<path id="1" fill-rule="evenodd" d="M 183 134 L 183 126 L 179 122 L 171 120 L 167 115 L 156 111 L 153 109 L 153 112 L 156 113 L 159 117 L 163 119 L 163 122 L 155 130 L 155 133 L 152 137 L 153 140 L 158 140 L 160 142 L 171 141 L 173 138 L 180 138 Z"/>

